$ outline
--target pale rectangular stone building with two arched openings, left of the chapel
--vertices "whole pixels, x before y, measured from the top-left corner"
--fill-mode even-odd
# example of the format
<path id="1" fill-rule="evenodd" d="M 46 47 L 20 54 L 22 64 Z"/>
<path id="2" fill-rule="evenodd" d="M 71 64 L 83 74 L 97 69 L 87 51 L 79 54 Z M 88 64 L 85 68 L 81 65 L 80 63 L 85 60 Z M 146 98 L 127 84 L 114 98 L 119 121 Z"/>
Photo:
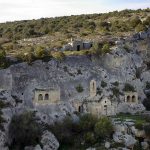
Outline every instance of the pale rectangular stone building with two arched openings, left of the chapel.
<path id="1" fill-rule="evenodd" d="M 56 104 L 60 101 L 60 89 L 35 89 L 33 101 L 40 105 Z"/>

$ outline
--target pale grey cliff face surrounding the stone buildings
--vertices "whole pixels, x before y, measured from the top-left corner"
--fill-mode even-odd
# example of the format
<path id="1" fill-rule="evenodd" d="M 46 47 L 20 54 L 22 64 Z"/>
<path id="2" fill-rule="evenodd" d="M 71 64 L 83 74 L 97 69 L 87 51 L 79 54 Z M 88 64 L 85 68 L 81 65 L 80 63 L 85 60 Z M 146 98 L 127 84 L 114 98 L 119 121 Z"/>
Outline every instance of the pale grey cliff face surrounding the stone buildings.
<path id="1" fill-rule="evenodd" d="M 1 134 L 4 136 L 1 136 L 0 144 L 5 145 L 11 118 L 24 110 L 36 111 L 36 116 L 47 124 L 61 120 L 67 114 L 75 117 L 71 103 L 89 96 L 89 82 L 92 79 L 97 81 L 101 97 L 123 101 L 125 85 L 130 85 L 138 92 L 142 102 L 150 82 L 149 37 L 149 32 L 141 32 L 119 40 L 111 53 L 102 56 L 69 56 L 62 61 L 52 59 L 49 62 L 37 60 L 32 65 L 19 63 L 0 70 L 0 100 L 7 104 L 5 107 L 2 105 L 5 132 Z M 77 90 L 79 85 L 82 92 Z M 35 105 L 34 90 L 38 88 L 60 88 L 61 102 Z M 121 112 L 126 110 L 122 108 Z"/>

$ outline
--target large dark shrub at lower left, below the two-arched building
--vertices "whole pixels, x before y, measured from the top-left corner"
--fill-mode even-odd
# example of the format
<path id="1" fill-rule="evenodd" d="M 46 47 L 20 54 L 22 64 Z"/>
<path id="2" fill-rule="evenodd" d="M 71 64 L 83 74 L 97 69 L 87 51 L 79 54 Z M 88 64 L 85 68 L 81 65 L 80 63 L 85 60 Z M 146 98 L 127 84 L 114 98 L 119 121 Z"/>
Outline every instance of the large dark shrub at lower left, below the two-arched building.
<path id="1" fill-rule="evenodd" d="M 15 115 L 9 125 L 10 149 L 20 150 L 25 146 L 35 146 L 41 139 L 41 126 L 33 112 Z"/>

